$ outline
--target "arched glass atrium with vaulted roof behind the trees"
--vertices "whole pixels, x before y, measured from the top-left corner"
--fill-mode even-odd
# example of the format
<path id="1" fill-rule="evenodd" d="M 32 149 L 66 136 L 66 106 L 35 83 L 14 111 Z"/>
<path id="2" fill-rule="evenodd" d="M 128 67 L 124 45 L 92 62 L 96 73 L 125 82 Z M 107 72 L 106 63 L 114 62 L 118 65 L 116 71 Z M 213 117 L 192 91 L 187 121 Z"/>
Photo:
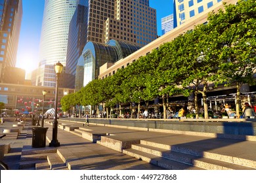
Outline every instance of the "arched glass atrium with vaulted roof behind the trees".
<path id="1" fill-rule="evenodd" d="M 87 42 L 77 63 L 75 91 L 98 78 L 100 67 L 105 63 L 115 63 L 129 56 L 141 47 L 123 41 L 111 40 L 106 44 Z"/>

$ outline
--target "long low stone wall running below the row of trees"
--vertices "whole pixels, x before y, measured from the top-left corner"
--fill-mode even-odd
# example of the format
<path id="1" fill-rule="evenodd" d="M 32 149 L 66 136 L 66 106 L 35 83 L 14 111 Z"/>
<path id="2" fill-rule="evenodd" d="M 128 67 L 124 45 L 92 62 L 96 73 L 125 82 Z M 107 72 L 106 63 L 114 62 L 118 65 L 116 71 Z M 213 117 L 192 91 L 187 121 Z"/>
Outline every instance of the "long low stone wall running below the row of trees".
<path id="1" fill-rule="evenodd" d="M 64 118 L 70 122 L 84 122 L 84 118 Z M 90 123 L 140 127 L 147 129 L 169 129 L 176 131 L 195 131 L 228 135 L 256 136 L 256 119 L 209 119 L 209 120 L 137 120 L 90 118 Z"/>

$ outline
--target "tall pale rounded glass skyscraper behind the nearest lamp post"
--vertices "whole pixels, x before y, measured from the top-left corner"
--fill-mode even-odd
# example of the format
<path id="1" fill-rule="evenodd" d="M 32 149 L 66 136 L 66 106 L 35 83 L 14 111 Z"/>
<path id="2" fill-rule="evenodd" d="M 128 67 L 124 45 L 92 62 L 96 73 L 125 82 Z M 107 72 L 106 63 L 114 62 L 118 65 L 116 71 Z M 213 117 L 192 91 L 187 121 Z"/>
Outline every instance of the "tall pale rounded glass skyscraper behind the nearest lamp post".
<path id="1" fill-rule="evenodd" d="M 66 66 L 68 29 L 77 0 L 45 0 L 39 50 L 37 86 L 55 86 L 54 63 Z"/>

